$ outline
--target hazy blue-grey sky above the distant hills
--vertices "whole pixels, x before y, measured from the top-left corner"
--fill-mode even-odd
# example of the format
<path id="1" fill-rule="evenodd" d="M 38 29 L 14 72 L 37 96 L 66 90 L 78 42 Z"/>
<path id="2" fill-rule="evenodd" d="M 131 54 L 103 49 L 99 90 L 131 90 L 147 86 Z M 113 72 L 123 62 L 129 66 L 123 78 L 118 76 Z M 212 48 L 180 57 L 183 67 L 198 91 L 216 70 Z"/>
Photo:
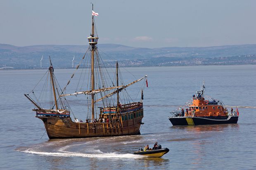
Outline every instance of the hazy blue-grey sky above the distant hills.
<path id="1" fill-rule="evenodd" d="M 99 44 L 256 44 L 256 0 L 0 0 L 0 44 L 87 44 L 91 2 Z"/>

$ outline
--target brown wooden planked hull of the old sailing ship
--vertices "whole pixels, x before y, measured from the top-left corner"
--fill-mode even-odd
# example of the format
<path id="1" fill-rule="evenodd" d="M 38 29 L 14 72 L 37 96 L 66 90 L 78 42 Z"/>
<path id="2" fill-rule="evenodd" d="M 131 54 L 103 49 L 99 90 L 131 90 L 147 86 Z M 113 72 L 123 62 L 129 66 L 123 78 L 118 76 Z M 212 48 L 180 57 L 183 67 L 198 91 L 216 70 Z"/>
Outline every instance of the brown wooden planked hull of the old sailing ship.
<path id="1" fill-rule="evenodd" d="M 55 138 L 84 138 L 84 137 L 107 137 L 121 135 L 140 135 L 140 125 L 143 118 L 143 109 L 136 112 L 124 113 L 123 121 L 109 123 L 76 123 L 70 117 L 40 117 L 44 122 L 47 135 L 50 139 Z M 133 114 L 133 119 L 128 119 L 128 114 Z M 138 116 L 136 116 L 138 115 Z M 139 116 L 140 115 L 140 116 Z M 130 118 L 130 116 L 129 116 Z"/>

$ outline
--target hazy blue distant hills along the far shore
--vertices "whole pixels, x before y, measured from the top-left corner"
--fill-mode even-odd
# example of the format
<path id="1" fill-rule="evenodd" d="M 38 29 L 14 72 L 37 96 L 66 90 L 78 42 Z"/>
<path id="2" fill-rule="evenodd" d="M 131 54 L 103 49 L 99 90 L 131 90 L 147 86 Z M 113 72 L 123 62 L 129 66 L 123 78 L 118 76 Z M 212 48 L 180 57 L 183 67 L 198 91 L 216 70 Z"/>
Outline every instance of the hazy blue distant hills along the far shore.
<path id="1" fill-rule="evenodd" d="M 87 45 L 17 47 L 0 44 L 0 68 L 40 68 L 42 55 L 43 68 L 49 66 L 48 56 L 51 56 L 55 68 L 71 68 L 73 56 L 75 56 L 75 64 L 78 64 L 87 48 Z M 256 44 L 154 49 L 98 44 L 98 49 L 102 60 L 108 66 L 114 65 L 115 61 L 119 61 L 123 66 L 256 64 Z"/>

